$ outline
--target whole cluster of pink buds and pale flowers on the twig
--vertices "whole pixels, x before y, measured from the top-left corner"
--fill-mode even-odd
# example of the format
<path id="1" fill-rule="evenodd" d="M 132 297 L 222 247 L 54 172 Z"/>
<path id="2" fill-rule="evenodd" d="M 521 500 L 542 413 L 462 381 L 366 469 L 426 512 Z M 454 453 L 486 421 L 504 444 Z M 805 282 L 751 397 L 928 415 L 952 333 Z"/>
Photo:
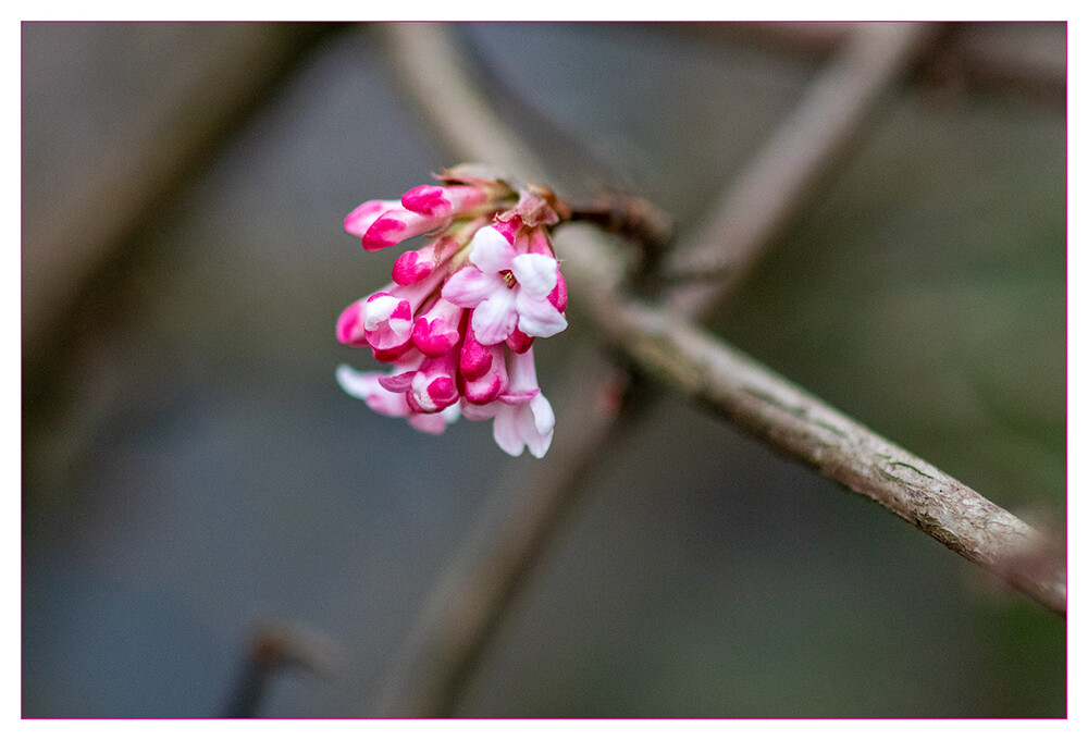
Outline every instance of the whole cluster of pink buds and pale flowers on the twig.
<path id="1" fill-rule="evenodd" d="M 543 457 L 555 415 L 536 383 L 533 341 L 567 328 L 567 285 L 549 227 L 565 207 L 551 190 L 514 189 L 470 166 L 399 201 L 370 200 L 344 229 L 375 251 L 426 235 L 401 254 L 393 282 L 341 314 L 337 338 L 369 347 L 391 372 L 337 369 L 341 386 L 374 411 L 441 433 L 463 416 L 493 419 L 498 446 Z"/>

